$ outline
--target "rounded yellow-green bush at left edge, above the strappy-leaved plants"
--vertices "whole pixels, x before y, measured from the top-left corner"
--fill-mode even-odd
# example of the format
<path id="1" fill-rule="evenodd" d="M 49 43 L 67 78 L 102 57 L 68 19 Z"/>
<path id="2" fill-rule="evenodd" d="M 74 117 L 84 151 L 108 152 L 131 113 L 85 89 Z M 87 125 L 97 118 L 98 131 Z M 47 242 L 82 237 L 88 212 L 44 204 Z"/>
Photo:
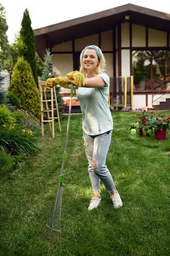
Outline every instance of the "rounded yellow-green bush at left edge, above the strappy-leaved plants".
<path id="1" fill-rule="evenodd" d="M 0 130 L 3 126 L 11 126 L 13 124 L 13 117 L 11 111 L 4 104 L 0 105 Z"/>

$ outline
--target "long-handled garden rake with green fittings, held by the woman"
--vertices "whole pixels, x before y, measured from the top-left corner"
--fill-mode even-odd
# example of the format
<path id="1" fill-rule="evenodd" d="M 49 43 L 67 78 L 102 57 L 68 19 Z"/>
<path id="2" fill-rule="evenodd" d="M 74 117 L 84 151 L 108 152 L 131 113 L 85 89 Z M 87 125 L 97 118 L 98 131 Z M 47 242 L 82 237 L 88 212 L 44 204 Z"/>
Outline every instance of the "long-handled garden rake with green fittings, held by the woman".
<path id="1" fill-rule="evenodd" d="M 61 171 L 60 171 L 60 175 L 59 175 L 59 179 L 58 179 L 57 193 L 55 195 L 53 207 L 51 209 L 49 219 L 45 225 L 45 236 L 47 238 L 49 238 L 51 241 L 53 241 L 53 243 L 61 243 L 62 242 L 62 236 L 61 236 L 62 232 L 61 232 L 61 223 L 60 223 L 61 209 L 62 209 L 62 193 L 63 193 L 63 186 L 64 186 L 62 179 L 63 179 L 63 175 L 64 175 L 64 163 L 65 163 L 65 159 L 66 159 L 66 150 L 67 150 L 70 117 L 71 117 L 71 104 L 72 104 L 73 90 L 74 90 L 74 86 L 71 83 L 70 105 L 69 105 L 69 111 L 68 111 L 66 142 L 65 142 L 65 148 L 64 148 L 63 158 L 62 158 L 62 167 L 61 167 Z"/>

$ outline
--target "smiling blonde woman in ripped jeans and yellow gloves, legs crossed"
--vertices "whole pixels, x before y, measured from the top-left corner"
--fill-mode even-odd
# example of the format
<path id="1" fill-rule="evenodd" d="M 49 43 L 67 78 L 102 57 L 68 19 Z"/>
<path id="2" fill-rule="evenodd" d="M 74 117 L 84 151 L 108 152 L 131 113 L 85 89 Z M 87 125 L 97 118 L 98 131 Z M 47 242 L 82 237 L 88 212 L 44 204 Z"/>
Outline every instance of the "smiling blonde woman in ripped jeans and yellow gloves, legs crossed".
<path id="1" fill-rule="evenodd" d="M 83 140 L 88 159 L 88 173 L 94 193 L 88 210 L 97 208 L 101 202 L 100 180 L 102 180 L 106 191 L 110 193 L 113 206 L 115 208 L 122 207 L 120 195 L 106 166 L 106 156 L 113 131 L 113 119 L 108 106 L 110 79 L 104 73 L 105 67 L 106 61 L 101 49 L 96 45 L 89 45 L 80 54 L 79 72 L 73 71 L 66 75 L 66 83 L 78 86 L 77 99 L 83 116 Z M 48 80 L 46 85 L 52 85 L 53 79 Z M 57 83 L 59 82 L 57 81 Z M 64 88 L 67 87 L 62 82 L 59 84 Z"/>

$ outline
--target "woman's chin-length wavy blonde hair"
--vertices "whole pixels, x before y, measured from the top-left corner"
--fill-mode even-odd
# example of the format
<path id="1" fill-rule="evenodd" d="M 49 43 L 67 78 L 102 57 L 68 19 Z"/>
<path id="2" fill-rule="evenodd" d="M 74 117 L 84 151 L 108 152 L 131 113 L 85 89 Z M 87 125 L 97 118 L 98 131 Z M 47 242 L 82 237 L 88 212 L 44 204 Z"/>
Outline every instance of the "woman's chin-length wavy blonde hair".
<path id="1" fill-rule="evenodd" d="M 96 74 L 102 74 L 105 71 L 105 67 L 106 67 L 106 60 L 104 58 L 104 55 L 102 53 L 102 50 L 95 45 L 95 47 L 98 49 L 99 54 L 100 54 L 100 60 L 99 60 L 99 65 L 96 67 Z M 94 47 L 92 47 L 91 45 L 86 46 L 86 49 L 95 49 Z M 84 48 L 84 49 L 85 49 Z M 80 62 L 80 67 L 79 67 L 79 72 L 84 74 L 84 76 L 86 76 L 87 74 L 87 70 L 86 68 L 83 67 L 83 55 L 84 55 L 84 49 L 82 50 L 80 57 L 79 57 L 79 62 Z M 98 55 L 98 54 L 97 54 Z M 99 57 L 98 57 L 99 59 Z"/>

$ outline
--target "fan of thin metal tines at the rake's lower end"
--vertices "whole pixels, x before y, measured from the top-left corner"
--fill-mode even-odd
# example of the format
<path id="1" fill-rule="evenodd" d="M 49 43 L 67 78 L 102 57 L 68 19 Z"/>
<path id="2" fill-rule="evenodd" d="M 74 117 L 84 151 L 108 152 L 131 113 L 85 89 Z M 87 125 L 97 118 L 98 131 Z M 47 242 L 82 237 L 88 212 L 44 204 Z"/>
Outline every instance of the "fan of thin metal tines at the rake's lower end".
<path id="1" fill-rule="evenodd" d="M 49 220 L 45 225 L 45 235 L 54 243 L 61 243 L 61 209 L 62 209 L 63 186 L 57 190 Z"/>

